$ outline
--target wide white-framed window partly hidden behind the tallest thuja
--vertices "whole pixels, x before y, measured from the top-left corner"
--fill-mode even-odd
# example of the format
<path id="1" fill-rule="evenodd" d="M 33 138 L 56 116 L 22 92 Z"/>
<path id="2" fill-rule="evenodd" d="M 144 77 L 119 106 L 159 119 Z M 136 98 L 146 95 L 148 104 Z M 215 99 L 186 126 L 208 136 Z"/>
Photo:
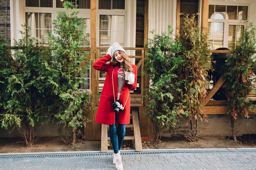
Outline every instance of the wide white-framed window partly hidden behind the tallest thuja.
<path id="1" fill-rule="evenodd" d="M 36 38 L 36 45 L 47 45 L 47 32 L 52 31 L 52 20 L 56 19 L 57 11 L 60 11 L 63 2 L 67 0 L 22 0 L 25 4 L 23 12 L 25 18 L 22 23 L 26 23 L 31 30 L 27 34 Z M 84 35 L 90 40 L 90 0 L 68 0 L 79 5 L 80 13 L 78 17 L 84 18 L 87 28 Z M 55 3 L 56 2 L 56 3 Z M 84 41 L 82 46 L 90 46 L 90 41 Z M 81 53 L 87 53 L 83 51 Z M 90 89 L 90 70 L 87 70 L 82 78 L 84 81 L 80 84 L 81 89 Z"/>

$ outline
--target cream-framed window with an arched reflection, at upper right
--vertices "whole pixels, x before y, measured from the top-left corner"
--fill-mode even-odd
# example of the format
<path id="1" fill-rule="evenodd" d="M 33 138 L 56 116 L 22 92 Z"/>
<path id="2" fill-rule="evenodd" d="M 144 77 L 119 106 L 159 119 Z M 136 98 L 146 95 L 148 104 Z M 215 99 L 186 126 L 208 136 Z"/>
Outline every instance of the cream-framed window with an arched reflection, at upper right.
<path id="1" fill-rule="evenodd" d="M 241 33 L 241 25 L 247 19 L 248 7 L 209 5 L 208 42 L 210 49 L 220 47 L 234 49 Z"/>

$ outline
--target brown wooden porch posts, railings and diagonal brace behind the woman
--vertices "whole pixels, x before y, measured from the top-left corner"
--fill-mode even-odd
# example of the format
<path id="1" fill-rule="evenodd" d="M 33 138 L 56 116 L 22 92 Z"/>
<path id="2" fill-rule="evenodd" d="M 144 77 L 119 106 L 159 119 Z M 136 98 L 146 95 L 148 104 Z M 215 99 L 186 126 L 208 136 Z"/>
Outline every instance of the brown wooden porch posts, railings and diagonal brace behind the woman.
<path id="1" fill-rule="evenodd" d="M 108 49 L 108 47 L 97 47 L 96 43 L 96 35 L 97 35 L 97 0 L 91 0 L 91 18 L 90 18 L 90 51 L 95 51 L 90 55 L 92 61 L 98 60 L 103 55 L 100 55 L 100 50 Z M 204 33 L 208 31 L 208 11 L 209 11 L 209 0 L 202 0 L 202 10 L 201 10 L 201 30 Z M 180 29 L 180 0 L 177 0 L 177 15 L 176 15 L 176 34 L 179 34 Z M 148 0 L 144 0 L 144 45 L 147 43 L 148 38 Z M 137 40 L 136 40 L 137 45 Z M 129 55 L 137 65 L 138 68 L 138 87 L 137 89 L 131 93 L 131 110 L 137 110 L 138 113 L 138 121 L 141 136 L 151 136 L 153 132 L 153 126 L 150 120 L 144 113 L 146 112 L 148 101 L 144 99 L 143 96 L 148 94 L 148 91 L 145 89 L 149 88 L 149 79 L 146 75 L 143 74 L 144 70 L 144 58 L 146 50 L 145 48 L 124 48 L 128 51 L 135 51 L 135 55 Z M 211 51 L 214 53 L 216 51 Z M 218 51 L 218 53 L 230 53 L 230 51 Z M 91 69 L 91 91 L 92 93 L 98 93 L 104 83 L 103 79 L 100 79 L 99 71 L 95 69 Z M 221 77 L 218 82 L 213 86 L 213 88 L 207 94 L 207 97 L 202 100 L 202 110 L 204 114 L 227 114 L 227 101 L 221 100 L 212 100 L 213 95 L 219 90 L 219 88 L 224 84 L 223 77 Z M 252 99 L 256 99 L 256 95 L 252 94 Z M 255 102 L 255 101 L 254 101 Z M 89 119 L 92 119 L 91 122 L 87 124 L 84 128 L 84 135 L 86 140 L 101 140 L 101 131 L 102 126 L 94 121 L 95 115 L 97 113 L 97 106 L 99 105 L 99 97 L 95 97 L 92 100 L 92 106 L 95 106 L 93 110 L 91 110 Z M 103 128 L 106 133 L 106 128 Z M 104 133 L 104 134 L 105 134 Z M 106 135 L 106 134 L 105 134 Z"/>

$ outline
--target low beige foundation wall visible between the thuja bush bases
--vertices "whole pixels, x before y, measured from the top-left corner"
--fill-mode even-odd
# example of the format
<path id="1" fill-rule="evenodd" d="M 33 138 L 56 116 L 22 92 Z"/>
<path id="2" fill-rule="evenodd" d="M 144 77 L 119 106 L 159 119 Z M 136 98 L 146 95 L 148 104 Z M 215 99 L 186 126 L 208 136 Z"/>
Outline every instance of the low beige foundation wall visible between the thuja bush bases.
<path id="1" fill-rule="evenodd" d="M 238 126 L 236 126 L 237 135 L 256 134 L 256 115 L 250 115 L 250 119 L 243 119 Z M 188 119 L 181 120 L 177 124 L 177 128 L 164 130 L 164 137 L 172 137 L 175 135 L 187 135 L 189 123 Z M 36 135 L 38 137 L 55 137 L 63 135 L 62 125 L 45 124 L 36 126 Z M 239 130 L 238 130 L 239 129 Z M 142 129 L 141 129 L 142 130 Z M 230 136 L 231 126 L 227 115 L 209 115 L 208 122 L 199 122 L 199 136 Z M 8 130 L 0 128 L 0 137 L 21 137 L 18 131 L 9 133 Z"/>

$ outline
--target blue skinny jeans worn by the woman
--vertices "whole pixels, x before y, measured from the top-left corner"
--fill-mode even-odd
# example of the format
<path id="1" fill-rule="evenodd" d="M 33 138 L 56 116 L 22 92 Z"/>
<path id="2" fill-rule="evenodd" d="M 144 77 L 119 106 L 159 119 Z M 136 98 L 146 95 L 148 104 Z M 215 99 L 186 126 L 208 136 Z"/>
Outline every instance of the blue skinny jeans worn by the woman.
<path id="1" fill-rule="evenodd" d="M 117 118 L 117 114 L 115 117 Z M 113 146 L 114 153 L 118 153 L 124 141 L 125 125 L 117 123 L 117 119 L 114 125 L 109 125 L 109 137 Z"/>

